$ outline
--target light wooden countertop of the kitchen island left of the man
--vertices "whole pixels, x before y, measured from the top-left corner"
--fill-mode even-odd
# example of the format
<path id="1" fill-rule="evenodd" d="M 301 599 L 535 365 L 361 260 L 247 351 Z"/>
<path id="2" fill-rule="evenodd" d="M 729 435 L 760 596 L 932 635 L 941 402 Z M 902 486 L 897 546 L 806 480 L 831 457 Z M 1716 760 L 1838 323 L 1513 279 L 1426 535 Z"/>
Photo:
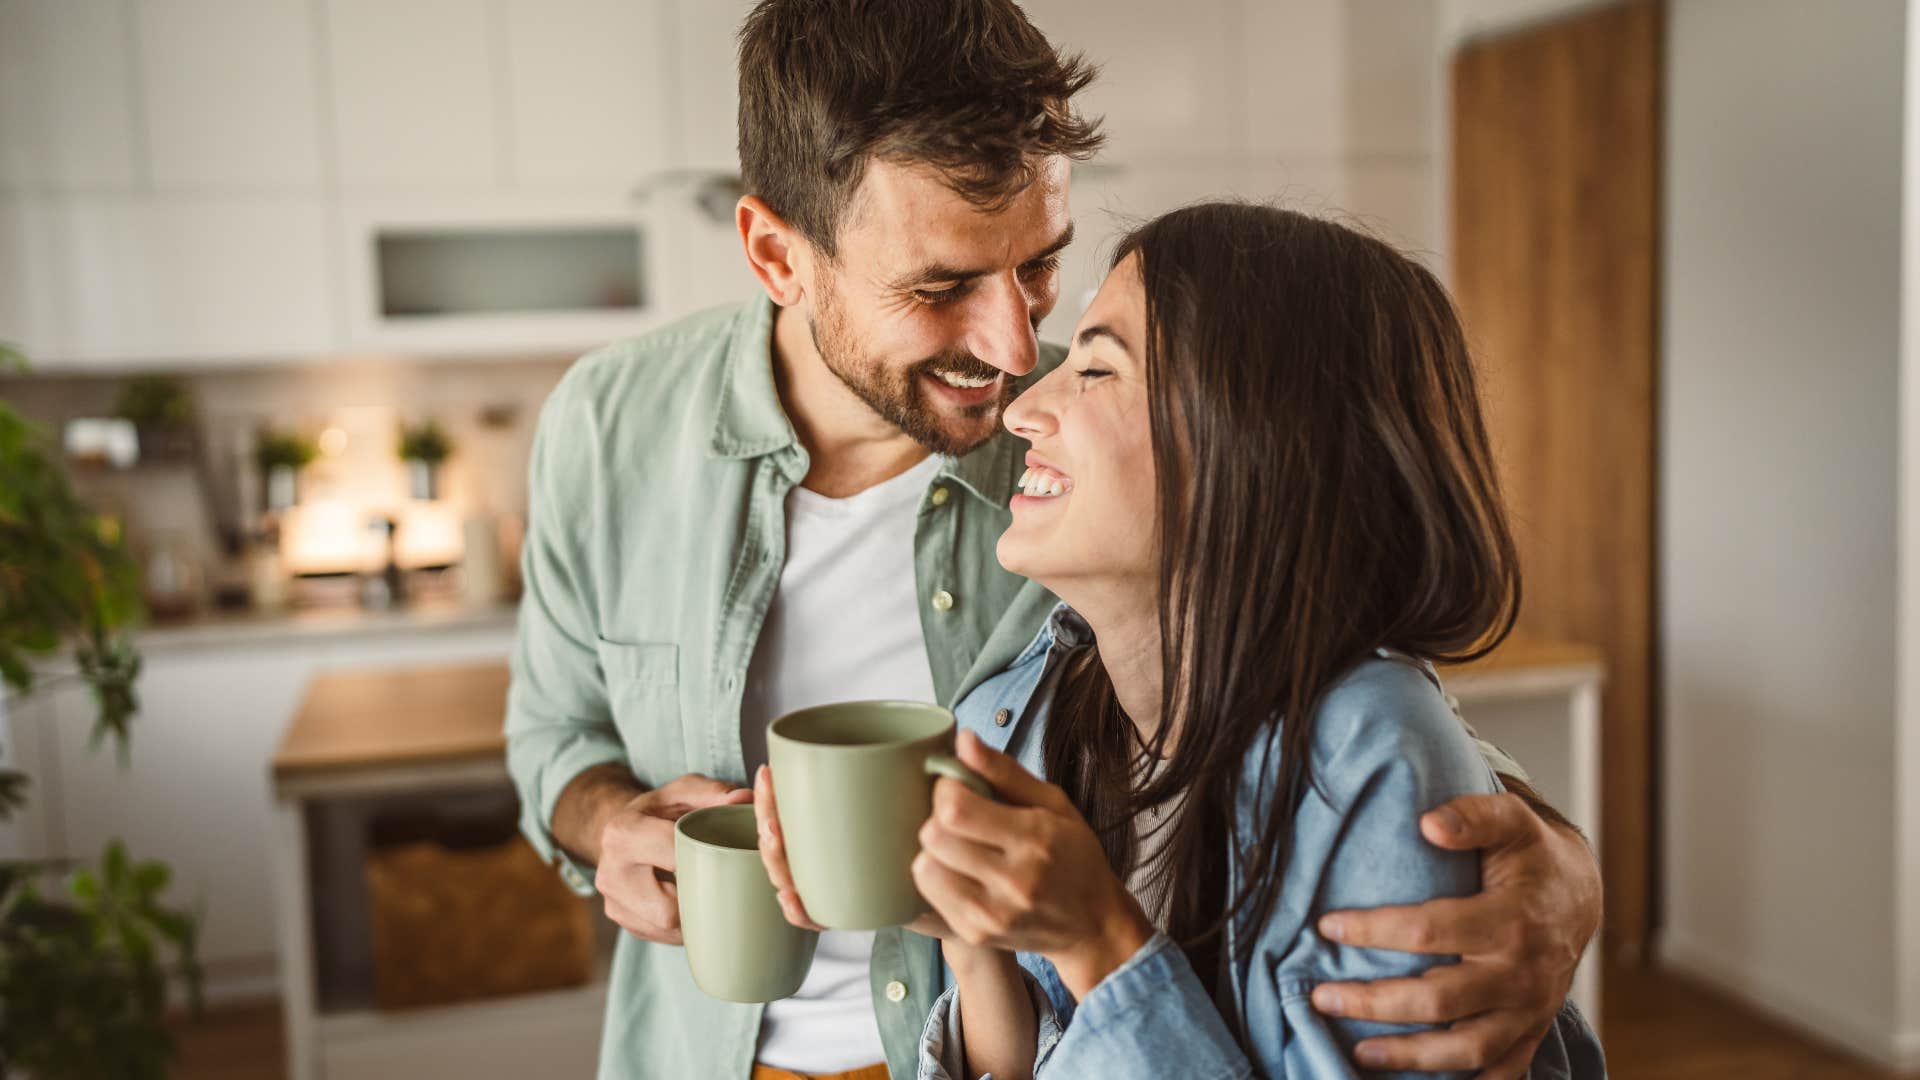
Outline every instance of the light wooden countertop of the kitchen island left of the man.
<path id="1" fill-rule="evenodd" d="M 507 665 L 323 671 L 273 755 L 275 780 L 386 765 L 499 759 Z"/>

